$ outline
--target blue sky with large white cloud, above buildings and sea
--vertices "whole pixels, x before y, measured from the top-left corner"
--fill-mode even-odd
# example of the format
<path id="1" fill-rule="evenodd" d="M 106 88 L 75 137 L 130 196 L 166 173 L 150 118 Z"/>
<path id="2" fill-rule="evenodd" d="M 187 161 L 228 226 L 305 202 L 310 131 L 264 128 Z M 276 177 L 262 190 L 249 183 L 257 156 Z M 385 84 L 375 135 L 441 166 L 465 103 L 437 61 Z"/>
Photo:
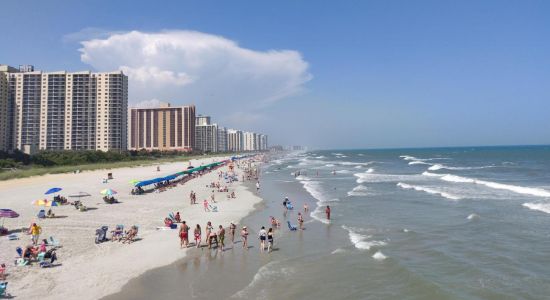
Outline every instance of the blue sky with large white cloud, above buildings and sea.
<path id="1" fill-rule="evenodd" d="M 318 149 L 550 144 L 550 1 L 2 1 L 0 64 Z"/>

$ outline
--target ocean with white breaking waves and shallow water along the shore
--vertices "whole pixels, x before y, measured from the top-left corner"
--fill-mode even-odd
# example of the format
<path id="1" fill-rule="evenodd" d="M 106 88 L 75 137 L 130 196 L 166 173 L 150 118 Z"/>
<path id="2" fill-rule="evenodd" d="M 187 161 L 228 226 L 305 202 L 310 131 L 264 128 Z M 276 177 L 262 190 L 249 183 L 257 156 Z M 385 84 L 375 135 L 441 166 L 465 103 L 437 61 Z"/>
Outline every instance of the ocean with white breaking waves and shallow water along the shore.
<path id="1" fill-rule="evenodd" d="M 241 224 L 280 219 L 276 251 L 196 250 L 106 299 L 550 297 L 550 146 L 292 153 L 261 182 Z"/>

